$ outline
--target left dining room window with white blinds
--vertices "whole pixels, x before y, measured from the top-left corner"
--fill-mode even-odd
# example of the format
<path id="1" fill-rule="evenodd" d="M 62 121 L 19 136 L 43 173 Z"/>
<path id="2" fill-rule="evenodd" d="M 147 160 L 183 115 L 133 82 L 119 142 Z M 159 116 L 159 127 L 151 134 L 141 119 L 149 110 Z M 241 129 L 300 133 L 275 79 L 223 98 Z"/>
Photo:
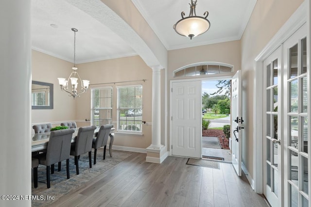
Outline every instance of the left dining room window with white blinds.
<path id="1" fill-rule="evenodd" d="M 91 125 L 100 127 L 112 121 L 112 87 L 91 89 Z"/>

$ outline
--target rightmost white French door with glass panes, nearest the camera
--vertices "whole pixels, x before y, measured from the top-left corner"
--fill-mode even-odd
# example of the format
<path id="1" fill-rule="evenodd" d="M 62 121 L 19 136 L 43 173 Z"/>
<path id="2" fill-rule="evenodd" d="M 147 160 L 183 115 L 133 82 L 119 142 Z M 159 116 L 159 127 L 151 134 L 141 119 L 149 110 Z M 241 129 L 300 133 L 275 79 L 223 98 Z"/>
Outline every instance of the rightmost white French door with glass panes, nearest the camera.
<path id="1" fill-rule="evenodd" d="M 308 82 L 307 27 L 283 44 L 284 52 L 284 197 L 285 206 L 308 207 Z M 310 135 L 309 135 L 310 136 Z"/>

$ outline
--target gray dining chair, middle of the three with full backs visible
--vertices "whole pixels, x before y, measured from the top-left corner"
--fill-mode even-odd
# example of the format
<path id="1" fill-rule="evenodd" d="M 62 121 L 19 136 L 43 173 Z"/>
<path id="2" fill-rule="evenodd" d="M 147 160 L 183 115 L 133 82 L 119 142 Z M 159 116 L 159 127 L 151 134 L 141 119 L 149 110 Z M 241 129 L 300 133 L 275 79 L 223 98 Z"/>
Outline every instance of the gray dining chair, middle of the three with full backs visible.
<path id="1" fill-rule="evenodd" d="M 71 144 L 70 155 L 74 156 L 74 164 L 76 172 L 79 175 L 79 160 L 78 157 L 88 152 L 89 168 L 92 168 L 92 141 L 96 126 L 80 127 L 76 142 Z"/>

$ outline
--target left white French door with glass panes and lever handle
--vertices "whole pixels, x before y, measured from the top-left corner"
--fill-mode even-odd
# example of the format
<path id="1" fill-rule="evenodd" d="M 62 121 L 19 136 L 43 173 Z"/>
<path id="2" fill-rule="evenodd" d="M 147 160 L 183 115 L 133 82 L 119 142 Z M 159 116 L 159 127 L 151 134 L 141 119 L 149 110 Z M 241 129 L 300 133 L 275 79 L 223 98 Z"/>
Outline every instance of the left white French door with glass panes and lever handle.
<path id="1" fill-rule="evenodd" d="M 272 207 L 280 206 L 282 156 L 281 47 L 263 62 L 263 194 Z"/>

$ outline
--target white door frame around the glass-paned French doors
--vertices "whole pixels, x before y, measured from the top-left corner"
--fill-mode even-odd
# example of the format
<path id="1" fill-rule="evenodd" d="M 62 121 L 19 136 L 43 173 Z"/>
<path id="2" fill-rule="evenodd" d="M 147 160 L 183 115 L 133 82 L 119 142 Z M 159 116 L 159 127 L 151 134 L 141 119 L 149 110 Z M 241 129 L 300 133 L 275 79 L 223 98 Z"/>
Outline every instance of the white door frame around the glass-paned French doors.
<path id="1" fill-rule="evenodd" d="M 274 37 L 269 41 L 269 43 L 259 52 L 259 55 L 255 58 L 254 63 L 254 145 L 253 150 L 255 152 L 253 163 L 254 163 L 254 178 L 247 176 L 252 188 L 256 193 L 263 193 L 263 155 L 262 155 L 262 129 L 263 129 L 263 108 L 261 104 L 263 96 L 263 61 L 274 52 L 282 43 L 284 43 L 295 31 L 297 31 L 304 23 L 310 25 L 309 19 L 307 18 L 310 13 L 311 0 L 305 0 L 299 8 L 294 12 L 294 14 L 285 22 L 285 24 L 276 32 Z M 307 32 L 307 41 L 310 43 L 310 27 Z M 307 50 L 310 51 L 310 44 L 307 44 Z M 310 52 L 307 58 L 308 64 L 310 65 Z M 311 169 L 309 163 L 309 172 Z"/>

